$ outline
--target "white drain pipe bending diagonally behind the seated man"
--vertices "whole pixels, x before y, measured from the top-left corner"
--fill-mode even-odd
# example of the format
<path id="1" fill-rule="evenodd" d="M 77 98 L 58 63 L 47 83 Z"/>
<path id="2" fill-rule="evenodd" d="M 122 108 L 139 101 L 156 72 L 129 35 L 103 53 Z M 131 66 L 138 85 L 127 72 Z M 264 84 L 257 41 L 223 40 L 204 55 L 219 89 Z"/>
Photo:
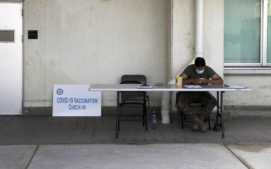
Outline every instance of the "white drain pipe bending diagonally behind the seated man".
<path id="1" fill-rule="evenodd" d="M 195 59 L 197 57 L 203 57 L 203 0 L 196 0 L 196 35 L 195 35 Z M 188 65 L 194 64 L 195 59 L 191 60 Z M 187 65 L 187 66 L 188 66 Z M 186 67 L 187 67 L 186 66 Z M 176 76 L 179 76 L 184 67 Z M 175 76 L 172 78 L 168 84 L 175 84 Z M 169 119 L 169 92 L 162 92 L 161 100 L 161 116 L 162 123 L 170 123 Z M 175 104 L 175 103 L 172 103 Z"/>

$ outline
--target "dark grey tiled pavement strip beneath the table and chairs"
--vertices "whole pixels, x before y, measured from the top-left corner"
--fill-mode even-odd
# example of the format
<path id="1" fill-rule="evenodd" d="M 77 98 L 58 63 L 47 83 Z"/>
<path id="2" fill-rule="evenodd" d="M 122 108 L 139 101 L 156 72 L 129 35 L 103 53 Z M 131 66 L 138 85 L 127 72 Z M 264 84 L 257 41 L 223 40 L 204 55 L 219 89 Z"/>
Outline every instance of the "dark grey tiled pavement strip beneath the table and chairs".
<path id="1" fill-rule="evenodd" d="M 159 120 L 160 117 L 158 117 Z M 161 118 L 160 118 L 161 120 Z M 186 128 L 174 121 L 157 124 L 148 131 L 139 121 L 122 121 L 116 139 L 116 116 L 52 117 L 0 116 L 0 145 L 58 143 L 259 143 L 271 142 L 271 117 L 232 118 L 225 121 L 225 139 L 221 132 L 206 133 Z M 211 127 L 214 121 L 211 121 Z"/>

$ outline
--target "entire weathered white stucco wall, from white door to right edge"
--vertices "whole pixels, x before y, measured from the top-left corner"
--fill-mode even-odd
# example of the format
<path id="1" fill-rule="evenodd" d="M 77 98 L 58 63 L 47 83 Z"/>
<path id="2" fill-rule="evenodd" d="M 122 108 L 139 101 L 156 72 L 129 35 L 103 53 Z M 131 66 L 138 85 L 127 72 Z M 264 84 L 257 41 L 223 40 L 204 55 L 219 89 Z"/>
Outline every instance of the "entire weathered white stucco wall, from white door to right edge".
<path id="1" fill-rule="evenodd" d="M 194 58 L 195 0 L 23 4 L 24 107 L 52 106 L 54 84 L 115 84 L 124 74 L 169 81 Z M 224 105 L 270 105 L 270 76 L 223 77 L 223 23 L 224 1 L 204 0 L 203 57 L 225 83 L 255 88 L 225 93 Z M 38 40 L 28 40 L 27 30 L 38 30 Z M 161 93 L 148 94 L 152 106 L 161 105 Z M 115 103 L 115 92 L 102 93 L 103 106 Z"/>

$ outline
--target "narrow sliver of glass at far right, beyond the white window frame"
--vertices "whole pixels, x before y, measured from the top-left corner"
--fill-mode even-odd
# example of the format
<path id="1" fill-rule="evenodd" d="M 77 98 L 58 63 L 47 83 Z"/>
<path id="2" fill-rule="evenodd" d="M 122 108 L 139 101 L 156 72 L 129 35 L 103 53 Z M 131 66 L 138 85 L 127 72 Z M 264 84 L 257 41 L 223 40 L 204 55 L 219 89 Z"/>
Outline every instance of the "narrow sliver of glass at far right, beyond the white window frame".
<path id="1" fill-rule="evenodd" d="M 271 63 L 271 0 L 267 5 L 267 63 Z"/>

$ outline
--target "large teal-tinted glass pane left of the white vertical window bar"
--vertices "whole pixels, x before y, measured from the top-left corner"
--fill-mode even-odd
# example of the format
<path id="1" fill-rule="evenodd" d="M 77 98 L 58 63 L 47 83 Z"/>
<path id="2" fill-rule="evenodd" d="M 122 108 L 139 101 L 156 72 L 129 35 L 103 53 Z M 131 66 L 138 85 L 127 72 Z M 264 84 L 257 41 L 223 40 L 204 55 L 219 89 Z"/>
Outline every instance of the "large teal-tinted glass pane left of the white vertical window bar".
<path id="1" fill-rule="evenodd" d="M 259 63 L 261 0 L 224 0 L 224 63 Z"/>

